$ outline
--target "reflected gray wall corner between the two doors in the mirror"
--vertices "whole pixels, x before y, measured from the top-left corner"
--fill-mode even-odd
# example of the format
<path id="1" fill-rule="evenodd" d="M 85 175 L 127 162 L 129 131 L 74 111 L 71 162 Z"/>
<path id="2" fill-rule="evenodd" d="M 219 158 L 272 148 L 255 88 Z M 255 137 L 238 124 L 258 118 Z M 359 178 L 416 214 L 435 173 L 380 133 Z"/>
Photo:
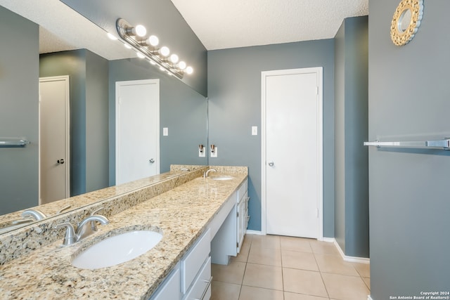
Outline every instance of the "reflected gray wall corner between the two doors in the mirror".
<path id="1" fill-rule="evenodd" d="M 70 76 L 70 195 L 108 186 L 108 60 L 85 49 L 41 55 L 40 77 Z"/>

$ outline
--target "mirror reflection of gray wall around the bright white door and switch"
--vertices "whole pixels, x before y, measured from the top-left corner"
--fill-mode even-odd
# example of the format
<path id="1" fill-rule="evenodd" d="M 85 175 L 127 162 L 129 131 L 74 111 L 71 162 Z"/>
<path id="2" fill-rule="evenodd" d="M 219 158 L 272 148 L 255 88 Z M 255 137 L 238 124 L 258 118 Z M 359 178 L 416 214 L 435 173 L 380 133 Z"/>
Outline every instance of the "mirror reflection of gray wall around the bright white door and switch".
<path id="1" fill-rule="evenodd" d="M 110 61 L 110 185 L 115 184 L 115 82 L 160 79 L 160 172 L 170 164 L 207 164 L 198 145 L 207 143 L 207 100 L 183 82 L 168 77 L 139 58 Z M 162 129 L 169 136 L 162 136 Z"/>

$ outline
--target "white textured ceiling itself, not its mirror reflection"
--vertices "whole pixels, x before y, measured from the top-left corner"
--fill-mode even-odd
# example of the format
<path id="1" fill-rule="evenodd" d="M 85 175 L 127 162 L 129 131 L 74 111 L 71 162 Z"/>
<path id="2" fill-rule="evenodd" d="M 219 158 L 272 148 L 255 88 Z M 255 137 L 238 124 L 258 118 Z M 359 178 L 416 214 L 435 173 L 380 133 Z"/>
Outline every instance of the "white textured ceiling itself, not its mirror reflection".
<path id="1" fill-rule="evenodd" d="M 368 0 L 171 0 L 207 50 L 332 39 Z"/>

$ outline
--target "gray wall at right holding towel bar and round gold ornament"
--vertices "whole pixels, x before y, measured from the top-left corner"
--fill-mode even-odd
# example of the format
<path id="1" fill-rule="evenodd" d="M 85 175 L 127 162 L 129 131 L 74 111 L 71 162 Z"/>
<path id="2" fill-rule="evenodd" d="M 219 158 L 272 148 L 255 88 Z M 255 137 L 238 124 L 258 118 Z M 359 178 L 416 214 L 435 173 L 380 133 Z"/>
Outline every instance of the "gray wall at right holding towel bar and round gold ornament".
<path id="1" fill-rule="evenodd" d="M 425 1 L 416 37 L 394 46 L 399 1 L 369 1 L 370 140 L 450 136 L 450 1 Z M 371 295 L 449 291 L 450 151 L 369 149 Z"/>

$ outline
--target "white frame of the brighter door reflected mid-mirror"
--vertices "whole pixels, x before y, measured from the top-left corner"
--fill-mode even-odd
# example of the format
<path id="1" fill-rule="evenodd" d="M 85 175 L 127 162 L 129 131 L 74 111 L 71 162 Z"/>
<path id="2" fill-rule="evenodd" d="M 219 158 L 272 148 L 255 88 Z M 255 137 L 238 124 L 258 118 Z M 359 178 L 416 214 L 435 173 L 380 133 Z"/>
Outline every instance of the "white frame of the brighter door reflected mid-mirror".
<path id="1" fill-rule="evenodd" d="M 160 79 L 139 79 L 128 81 L 116 81 L 115 82 L 115 167 L 114 167 L 114 180 L 117 183 L 117 165 L 119 160 L 119 89 L 120 86 L 131 86 L 136 84 L 156 84 L 158 100 L 156 101 L 156 109 L 158 114 L 156 115 L 156 174 L 160 174 Z"/>

